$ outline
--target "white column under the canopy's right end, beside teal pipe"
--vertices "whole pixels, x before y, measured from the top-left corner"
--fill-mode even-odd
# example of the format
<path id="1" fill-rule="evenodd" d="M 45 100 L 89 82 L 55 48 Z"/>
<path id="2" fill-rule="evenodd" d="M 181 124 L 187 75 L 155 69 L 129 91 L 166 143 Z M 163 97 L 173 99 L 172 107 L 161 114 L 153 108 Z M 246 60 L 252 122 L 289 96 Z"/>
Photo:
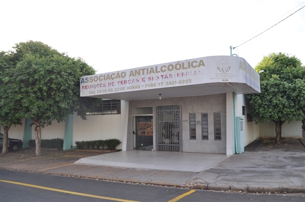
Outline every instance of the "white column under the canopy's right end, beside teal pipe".
<path id="1" fill-rule="evenodd" d="M 233 93 L 227 93 L 227 155 L 232 155 L 235 153 L 234 145 L 234 105 L 233 105 Z M 234 117 L 234 118 L 233 118 Z"/>

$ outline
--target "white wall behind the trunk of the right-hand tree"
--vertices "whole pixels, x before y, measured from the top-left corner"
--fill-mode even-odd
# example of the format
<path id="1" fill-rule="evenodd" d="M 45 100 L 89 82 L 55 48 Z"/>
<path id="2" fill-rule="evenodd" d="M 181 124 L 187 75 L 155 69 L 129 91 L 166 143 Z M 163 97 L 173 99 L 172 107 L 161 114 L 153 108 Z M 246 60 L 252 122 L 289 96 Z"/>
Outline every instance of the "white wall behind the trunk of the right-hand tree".
<path id="1" fill-rule="evenodd" d="M 275 138 L 276 124 L 273 121 L 260 124 L 261 138 Z M 299 139 L 302 138 L 302 123 L 301 121 L 285 122 L 282 125 L 282 138 Z"/>

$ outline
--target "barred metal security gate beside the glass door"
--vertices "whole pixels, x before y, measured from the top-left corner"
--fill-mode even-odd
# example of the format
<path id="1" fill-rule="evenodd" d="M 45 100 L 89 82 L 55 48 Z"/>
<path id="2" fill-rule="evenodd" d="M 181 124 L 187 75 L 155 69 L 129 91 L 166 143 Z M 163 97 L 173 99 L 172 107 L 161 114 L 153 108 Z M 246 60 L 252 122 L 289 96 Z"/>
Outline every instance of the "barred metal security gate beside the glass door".
<path id="1" fill-rule="evenodd" d="M 156 109 L 157 150 L 182 151 L 181 106 L 158 106 Z"/>

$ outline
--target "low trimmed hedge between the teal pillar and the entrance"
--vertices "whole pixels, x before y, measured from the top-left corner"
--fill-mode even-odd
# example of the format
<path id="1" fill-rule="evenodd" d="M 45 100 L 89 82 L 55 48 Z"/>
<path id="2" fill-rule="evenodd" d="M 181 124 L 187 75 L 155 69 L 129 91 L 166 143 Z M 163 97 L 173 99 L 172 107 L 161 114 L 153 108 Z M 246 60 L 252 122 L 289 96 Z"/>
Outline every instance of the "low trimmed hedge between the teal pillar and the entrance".
<path id="1" fill-rule="evenodd" d="M 76 149 L 114 150 L 120 143 L 118 139 L 75 141 Z"/>

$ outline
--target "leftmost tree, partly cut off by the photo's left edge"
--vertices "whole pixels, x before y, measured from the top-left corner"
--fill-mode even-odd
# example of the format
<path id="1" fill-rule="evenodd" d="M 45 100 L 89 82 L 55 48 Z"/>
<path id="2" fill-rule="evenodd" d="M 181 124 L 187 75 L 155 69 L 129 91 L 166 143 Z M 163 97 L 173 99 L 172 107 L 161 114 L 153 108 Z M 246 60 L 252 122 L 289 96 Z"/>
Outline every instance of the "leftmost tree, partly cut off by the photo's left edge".
<path id="1" fill-rule="evenodd" d="M 0 53 L 0 122 L 4 128 L 3 154 L 8 153 L 9 129 L 12 125 L 22 124 L 22 117 L 19 113 L 20 102 L 9 96 L 12 78 L 12 72 L 9 71 L 9 67 L 12 65 L 10 59 L 6 52 Z"/>

